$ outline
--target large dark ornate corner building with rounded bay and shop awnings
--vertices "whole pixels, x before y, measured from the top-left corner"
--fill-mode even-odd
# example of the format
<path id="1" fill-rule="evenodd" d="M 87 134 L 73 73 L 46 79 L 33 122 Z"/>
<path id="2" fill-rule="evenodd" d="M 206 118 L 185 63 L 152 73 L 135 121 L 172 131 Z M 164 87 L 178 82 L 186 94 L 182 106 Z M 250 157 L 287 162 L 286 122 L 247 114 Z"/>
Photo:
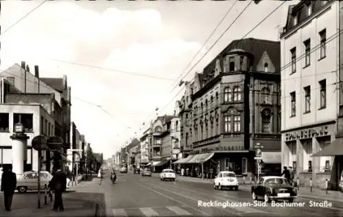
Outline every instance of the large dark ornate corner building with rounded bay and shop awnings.
<path id="1" fill-rule="evenodd" d="M 182 160 L 191 175 L 213 177 L 221 170 L 255 174 L 257 143 L 263 145 L 265 170 L 279 174 L 279 72 L 280 43 L 245 38 L 230 43 L 203 73 L 196 73 L 193 155 Z"/>

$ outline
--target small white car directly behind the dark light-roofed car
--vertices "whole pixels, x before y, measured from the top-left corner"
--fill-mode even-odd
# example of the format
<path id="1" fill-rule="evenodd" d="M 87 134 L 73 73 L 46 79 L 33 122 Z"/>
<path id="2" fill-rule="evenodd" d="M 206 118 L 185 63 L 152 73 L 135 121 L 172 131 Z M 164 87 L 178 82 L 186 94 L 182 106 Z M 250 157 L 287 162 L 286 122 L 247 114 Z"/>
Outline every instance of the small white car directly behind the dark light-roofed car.
<path id="1" fill-rule="evenodd" d="M 222 190 L 224 187 L 238 190 L 238 181 L 235 172 L 221 171 L 214 179 L 214 189 Z"/>

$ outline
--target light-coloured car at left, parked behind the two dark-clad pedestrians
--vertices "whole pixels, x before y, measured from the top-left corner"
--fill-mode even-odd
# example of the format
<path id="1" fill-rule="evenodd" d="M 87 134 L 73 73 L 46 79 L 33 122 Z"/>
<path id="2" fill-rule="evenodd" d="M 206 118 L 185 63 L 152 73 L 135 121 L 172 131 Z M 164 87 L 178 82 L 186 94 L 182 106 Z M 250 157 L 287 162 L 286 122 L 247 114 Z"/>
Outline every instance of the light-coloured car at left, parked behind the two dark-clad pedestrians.
<path id="1" fill-rule="evenodd" d="M 40 172 L 40 190 L 44 190 L 45 185 L 49 185 L 52 175 L 48 171 Z M 38 190 L 38 172 L 30 171 L 24 172 L 19 179 L 16 180 L 16 190 L 20 193 L 27 192 L 27 190 Z"/>

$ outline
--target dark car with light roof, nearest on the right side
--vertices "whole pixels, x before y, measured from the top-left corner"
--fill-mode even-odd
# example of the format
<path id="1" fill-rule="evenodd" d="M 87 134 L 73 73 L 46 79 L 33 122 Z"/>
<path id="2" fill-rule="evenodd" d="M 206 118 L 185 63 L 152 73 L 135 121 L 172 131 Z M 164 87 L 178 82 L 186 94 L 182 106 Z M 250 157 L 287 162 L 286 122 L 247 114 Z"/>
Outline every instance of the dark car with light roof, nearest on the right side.
<path id="1" fill-rule="evenodd" d="M 296 187 L 281 176 L 263 176 L 257 185 L 251 187 L 252 199 L 263 198 L 266 203 L 270 201 L 289 201 L 292 203 L 297 197 Z"/>

